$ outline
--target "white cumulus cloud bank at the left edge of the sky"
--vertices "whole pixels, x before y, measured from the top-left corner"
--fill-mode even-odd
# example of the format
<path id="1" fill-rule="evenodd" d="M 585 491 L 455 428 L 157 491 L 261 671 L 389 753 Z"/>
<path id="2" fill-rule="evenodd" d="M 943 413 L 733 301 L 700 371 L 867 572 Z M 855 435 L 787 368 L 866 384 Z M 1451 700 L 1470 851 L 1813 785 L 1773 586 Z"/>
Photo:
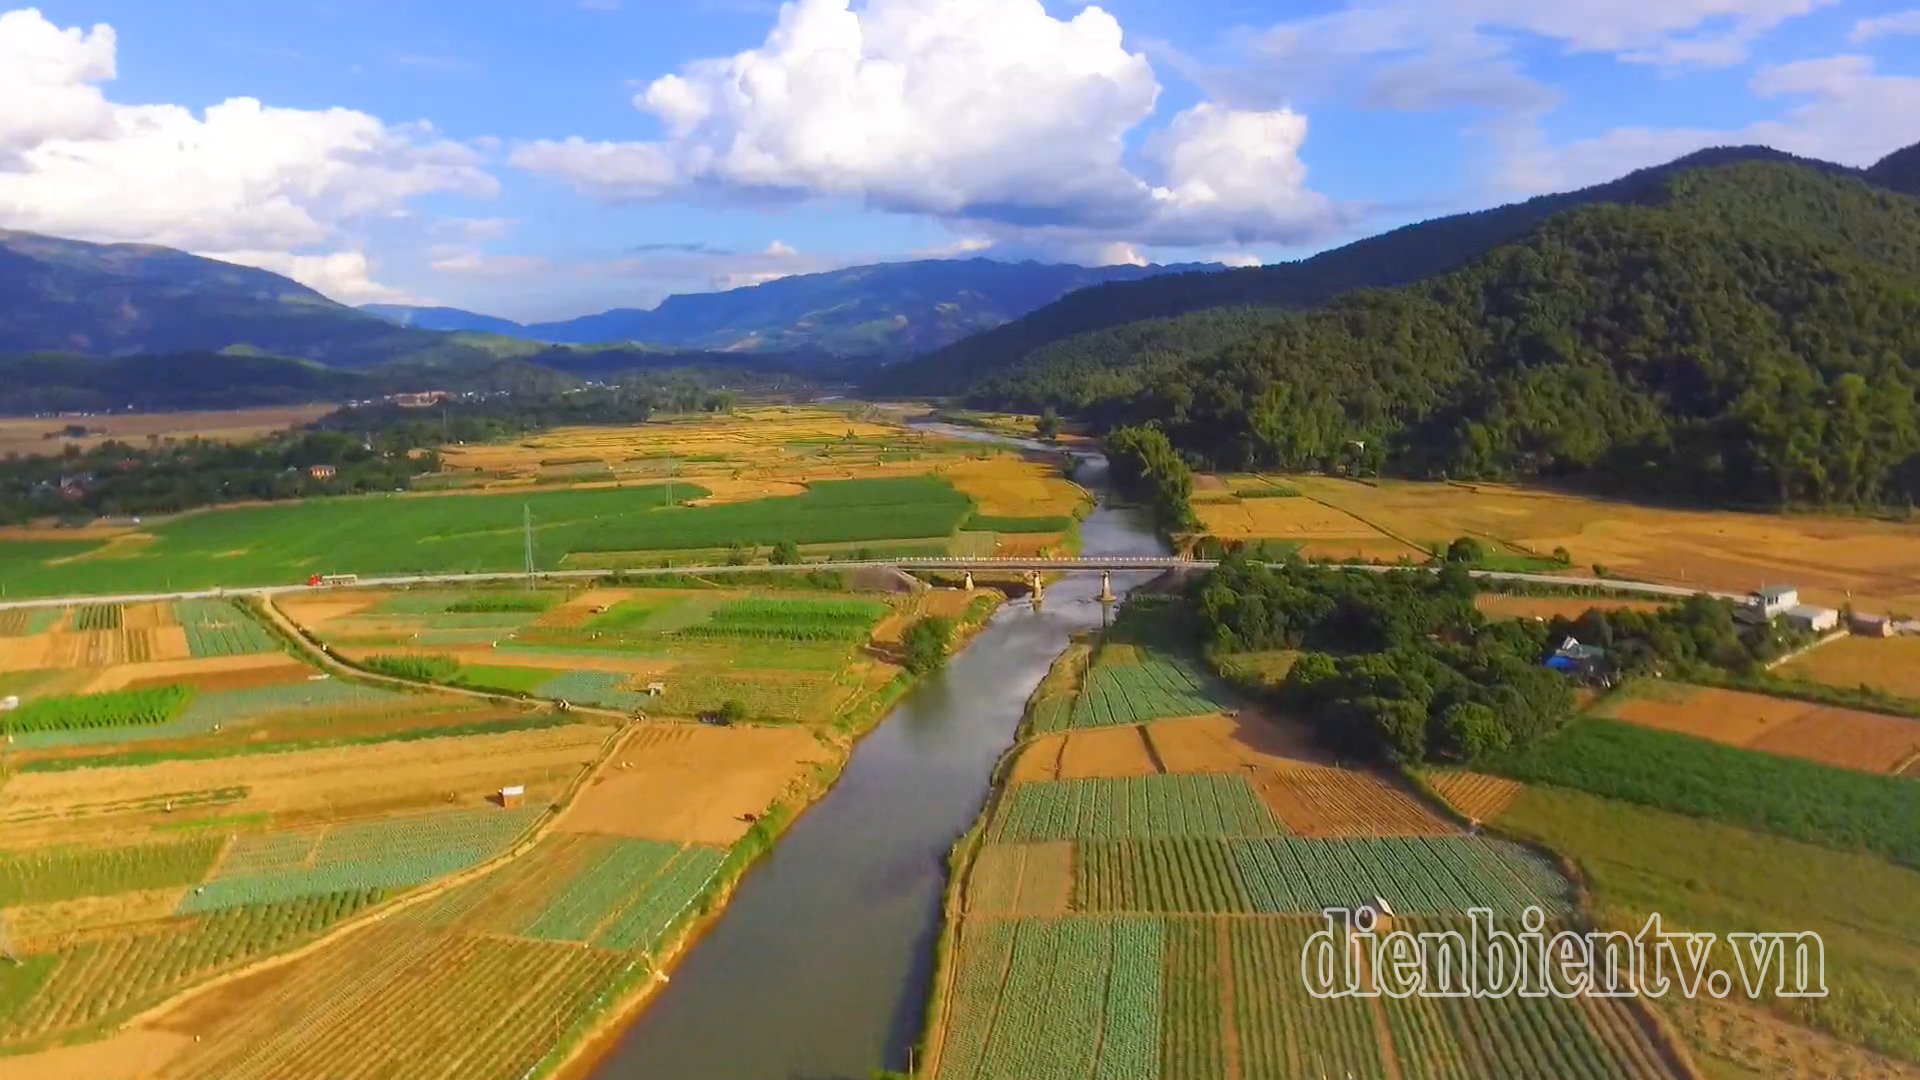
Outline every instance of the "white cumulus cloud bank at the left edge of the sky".
<path id="1" fill-rule="evenodd" d="M 426 125 L 253 98 L 198 113 L 111 102 L 115 46 L 111 27 L 0 15 L 0 225 L 275 258 L 365 296 L 378 288 L 353 277 L 365 256 L 338 250 L 353 223 L 428 192 L 495 190 L 474 150 Z"/>

